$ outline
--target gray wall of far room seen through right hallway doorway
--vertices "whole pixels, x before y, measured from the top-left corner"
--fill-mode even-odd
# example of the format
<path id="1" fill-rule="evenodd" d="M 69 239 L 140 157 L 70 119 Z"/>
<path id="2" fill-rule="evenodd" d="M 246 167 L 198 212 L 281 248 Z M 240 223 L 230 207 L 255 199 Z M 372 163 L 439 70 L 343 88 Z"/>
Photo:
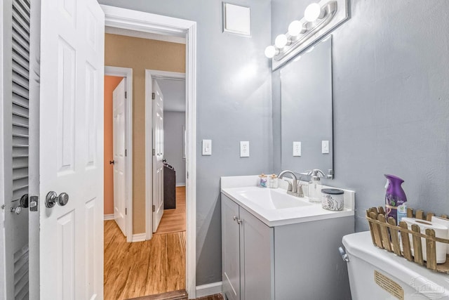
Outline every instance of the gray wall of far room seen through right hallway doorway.
<path id="1" fill-rule="evenodd" d="M 163 158 L 176 171 L 176 184 L 185 184 L 185 159 L 182 159 L 185 112 L 163 111 Z"/>

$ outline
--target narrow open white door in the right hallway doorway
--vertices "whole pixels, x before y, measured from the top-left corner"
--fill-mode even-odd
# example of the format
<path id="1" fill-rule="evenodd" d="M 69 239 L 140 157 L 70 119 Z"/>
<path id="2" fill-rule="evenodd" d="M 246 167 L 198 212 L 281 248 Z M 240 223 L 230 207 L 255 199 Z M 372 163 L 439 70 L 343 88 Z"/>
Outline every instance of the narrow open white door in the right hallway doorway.
<path id="1" fill-rule="evenodd" d="M 163 95 L 153 80 L 153 232 L 163 215 Z"/>

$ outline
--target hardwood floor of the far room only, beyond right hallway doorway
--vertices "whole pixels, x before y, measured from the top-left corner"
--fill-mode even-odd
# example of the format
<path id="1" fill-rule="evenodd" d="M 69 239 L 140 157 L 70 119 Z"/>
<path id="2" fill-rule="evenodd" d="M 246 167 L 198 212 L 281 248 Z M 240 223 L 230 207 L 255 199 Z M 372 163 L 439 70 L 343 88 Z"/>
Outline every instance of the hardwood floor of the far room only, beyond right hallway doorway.
<path id="1" fill-rule="evenodd" d="M 165 209 L 155 235 L 185 231 L 185 186 L 176 188 L 176 208 Z"/>

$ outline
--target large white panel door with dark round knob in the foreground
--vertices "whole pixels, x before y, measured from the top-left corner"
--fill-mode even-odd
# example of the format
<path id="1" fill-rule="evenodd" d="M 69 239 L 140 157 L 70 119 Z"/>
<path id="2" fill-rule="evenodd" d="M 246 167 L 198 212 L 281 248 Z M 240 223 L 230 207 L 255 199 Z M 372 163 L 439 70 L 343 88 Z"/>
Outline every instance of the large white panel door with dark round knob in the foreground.
<path id="1" fill-rule="evenodd" d="M 40 299 L 103 298 L 104 24 L 96 0 L 41 1 Z"/>

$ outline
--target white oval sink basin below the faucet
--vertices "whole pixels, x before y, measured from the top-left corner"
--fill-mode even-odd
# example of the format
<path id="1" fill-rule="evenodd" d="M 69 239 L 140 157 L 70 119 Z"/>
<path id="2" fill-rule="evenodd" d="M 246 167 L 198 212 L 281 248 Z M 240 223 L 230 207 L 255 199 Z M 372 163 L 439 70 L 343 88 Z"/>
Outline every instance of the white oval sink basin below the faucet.
<path id="1" fill-rule="evenodd" d="M 286 190 L 282 189 L 254 187 L 236 191 L 236 194 L 264 209 L 288 209 L 313 205 L 304 198 L 288 195 Z"/>

